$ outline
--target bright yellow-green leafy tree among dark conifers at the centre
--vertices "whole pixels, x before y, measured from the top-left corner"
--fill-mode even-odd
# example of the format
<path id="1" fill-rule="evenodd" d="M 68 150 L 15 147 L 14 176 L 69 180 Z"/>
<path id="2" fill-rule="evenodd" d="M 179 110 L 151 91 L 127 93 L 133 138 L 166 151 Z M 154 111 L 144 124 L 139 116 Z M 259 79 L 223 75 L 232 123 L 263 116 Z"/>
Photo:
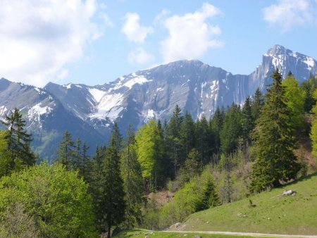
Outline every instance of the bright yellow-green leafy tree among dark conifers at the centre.
<path id="1" fill-rule="evenodd" d="M 146 181 L 156 182 L 163 154 L 163 138 L 155 120 L 149 120 L 146 125 L 143 125 L 137 132 L 135 139 L 137 142 L 137 161 L 141 165 L 142 177 Z"/>

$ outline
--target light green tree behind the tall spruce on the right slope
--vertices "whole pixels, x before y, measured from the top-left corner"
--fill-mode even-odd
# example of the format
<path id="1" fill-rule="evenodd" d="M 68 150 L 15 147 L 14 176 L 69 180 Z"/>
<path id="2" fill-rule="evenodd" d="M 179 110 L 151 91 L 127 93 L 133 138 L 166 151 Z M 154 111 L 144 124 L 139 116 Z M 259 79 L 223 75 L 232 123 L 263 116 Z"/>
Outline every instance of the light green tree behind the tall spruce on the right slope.
<path id="1" fill-rule="evenodd" d="M 290 109 L 290 123 L 294 128 L 304 126 L 304 91 L 299 88 L 298 81 L 292 74 L 287 75 L 282 81 L 285 87 L 285 104 Z"/>

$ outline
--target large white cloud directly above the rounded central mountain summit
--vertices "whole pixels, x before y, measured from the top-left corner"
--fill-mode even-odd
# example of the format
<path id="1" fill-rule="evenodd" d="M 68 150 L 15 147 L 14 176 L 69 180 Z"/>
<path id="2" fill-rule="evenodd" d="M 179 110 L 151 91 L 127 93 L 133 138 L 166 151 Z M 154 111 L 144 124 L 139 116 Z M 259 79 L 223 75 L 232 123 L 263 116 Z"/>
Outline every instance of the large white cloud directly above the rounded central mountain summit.
<path id="1" fill-rule="evenodd" d="M 207 21 L 219 14 L 218 8 L 205 3 L 194 13 L 166 18 L 164 26 L 169 35 L 161 42 L 164 61 L 167 63 L 184 58 L 199 58 L 209 49 L 223 46 L 223 42 L 216 39 L 221 32 L 220 27 L 210 25 Z"/>

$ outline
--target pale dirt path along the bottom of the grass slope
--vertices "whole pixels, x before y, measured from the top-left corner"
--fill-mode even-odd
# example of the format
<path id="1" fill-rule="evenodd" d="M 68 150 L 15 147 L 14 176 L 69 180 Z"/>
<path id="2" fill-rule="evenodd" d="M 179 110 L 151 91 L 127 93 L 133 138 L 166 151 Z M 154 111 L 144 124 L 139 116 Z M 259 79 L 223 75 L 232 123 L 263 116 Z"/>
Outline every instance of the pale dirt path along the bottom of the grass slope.
<path id="1" fill-rule="evenodd" d="M 263 233 L 249 233 L 249 232 L 203 232 L 203 231 L 179 231 L 168 230 L 164 232 L 177 232 L 177 233 L 200 233 L 200 234 L 229 234 L 244 237 L 297 237 L 297 238 L 317 238 L 317 235 L 296 235 L 296 234 L 263 234 Z"/>

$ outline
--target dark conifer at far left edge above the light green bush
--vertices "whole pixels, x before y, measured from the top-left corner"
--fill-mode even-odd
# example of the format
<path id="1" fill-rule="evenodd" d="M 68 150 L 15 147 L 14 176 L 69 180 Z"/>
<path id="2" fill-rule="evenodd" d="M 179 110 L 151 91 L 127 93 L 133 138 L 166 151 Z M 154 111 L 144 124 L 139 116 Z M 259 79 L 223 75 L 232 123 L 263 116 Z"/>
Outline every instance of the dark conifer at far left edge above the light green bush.
<path id="1" fill-rule="evenodd" d="M 10 157 L 6 174 L 13 170 L 20 170 L 25 166 L 34 165 L 36 158 L 30 149 L 32 135 L 25 130 L 25 120 L 18 108 L 6 115 L 5 120 L 1 120 L 1 123 L 8 128 L 8 133 L 4 137 Z"/>

